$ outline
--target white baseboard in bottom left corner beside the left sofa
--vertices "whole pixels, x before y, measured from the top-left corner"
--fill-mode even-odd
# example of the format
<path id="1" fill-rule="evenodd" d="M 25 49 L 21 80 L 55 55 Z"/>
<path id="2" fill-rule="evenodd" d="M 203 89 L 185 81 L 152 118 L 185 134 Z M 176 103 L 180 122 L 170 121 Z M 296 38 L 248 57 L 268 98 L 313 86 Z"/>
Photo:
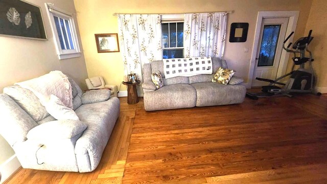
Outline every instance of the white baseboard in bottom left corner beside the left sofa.
<path id="1" fill-rule="evenodd" d="M 18 168 L 20 167 L 20 163 L 16 157 L 16 155 L 12 155 L 8 158 L 1 166 L 1 181 L 0 184 L 6 181 Z"/>

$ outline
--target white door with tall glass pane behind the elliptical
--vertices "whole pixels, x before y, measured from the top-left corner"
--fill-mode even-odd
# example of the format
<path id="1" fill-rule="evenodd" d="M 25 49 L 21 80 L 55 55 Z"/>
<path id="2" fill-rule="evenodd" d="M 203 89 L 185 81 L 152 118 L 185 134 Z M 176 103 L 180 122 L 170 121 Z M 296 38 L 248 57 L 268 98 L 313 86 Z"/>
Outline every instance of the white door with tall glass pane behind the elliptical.
<path id="1" fill-rule="evenodd" d="M 268 85 L 256 77 L 275 80 L 283 50 L 288 18 L 263 18 L 255 58 L 252 86 Z"/>

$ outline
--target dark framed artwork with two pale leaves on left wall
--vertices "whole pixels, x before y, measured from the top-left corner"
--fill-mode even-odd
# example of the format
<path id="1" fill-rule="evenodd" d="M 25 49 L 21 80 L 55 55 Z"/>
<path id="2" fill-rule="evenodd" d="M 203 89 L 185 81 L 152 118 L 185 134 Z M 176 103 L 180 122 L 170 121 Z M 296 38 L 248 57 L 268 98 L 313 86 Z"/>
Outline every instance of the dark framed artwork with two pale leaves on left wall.
<path id="1" fill-rule="evenodd" d="M 40 7 L 19 0 L 0 1 L 0 34 L 46 40 Z"/>

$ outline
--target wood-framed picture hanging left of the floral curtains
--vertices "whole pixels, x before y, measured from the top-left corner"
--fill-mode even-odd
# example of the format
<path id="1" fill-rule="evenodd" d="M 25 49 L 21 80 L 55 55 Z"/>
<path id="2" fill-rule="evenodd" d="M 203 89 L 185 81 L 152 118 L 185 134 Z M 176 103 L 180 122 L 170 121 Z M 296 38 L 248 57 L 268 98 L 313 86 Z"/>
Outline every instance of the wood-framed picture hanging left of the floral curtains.
<path id="1" fill-rule="evenodd" d="M 118 34 L 95 34 L 98 53 L 119 52 Z"/>

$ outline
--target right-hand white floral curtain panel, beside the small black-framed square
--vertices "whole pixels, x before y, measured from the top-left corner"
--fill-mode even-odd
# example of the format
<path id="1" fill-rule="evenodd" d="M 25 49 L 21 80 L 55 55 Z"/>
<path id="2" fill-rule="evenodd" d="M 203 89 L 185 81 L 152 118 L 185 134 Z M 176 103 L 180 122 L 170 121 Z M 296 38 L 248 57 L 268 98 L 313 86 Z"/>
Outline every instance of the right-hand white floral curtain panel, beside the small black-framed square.
<path id="1" fill-rule="evenodd" d="M 184 57 L 223 57 L 227 13 L 189 13 L 184 20 Z"/>

